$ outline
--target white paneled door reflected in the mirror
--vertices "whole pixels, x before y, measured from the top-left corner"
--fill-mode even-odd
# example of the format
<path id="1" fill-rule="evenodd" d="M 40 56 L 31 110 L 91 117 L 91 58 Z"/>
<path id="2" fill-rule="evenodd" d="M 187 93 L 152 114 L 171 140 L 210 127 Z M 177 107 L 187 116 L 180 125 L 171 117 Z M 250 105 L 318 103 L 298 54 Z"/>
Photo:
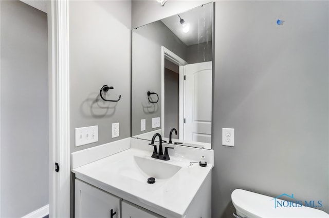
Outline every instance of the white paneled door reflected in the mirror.
<path id="1" fill-rule="evenodd" d="M 184 140 L 211 143 L 212 62 L 185 66 Z"/>

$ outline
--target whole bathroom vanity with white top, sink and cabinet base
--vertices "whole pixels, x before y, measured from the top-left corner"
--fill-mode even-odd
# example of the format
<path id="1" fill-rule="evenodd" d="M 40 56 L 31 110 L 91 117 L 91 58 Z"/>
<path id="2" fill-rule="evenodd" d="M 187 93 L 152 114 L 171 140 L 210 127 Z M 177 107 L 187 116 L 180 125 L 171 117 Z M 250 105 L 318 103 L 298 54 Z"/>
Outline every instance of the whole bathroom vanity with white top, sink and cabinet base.
<path id="1" fill-rule="evenodd" d="M 152 158 L 153 146 L 137 138 L 72 153 L 75 217 L 211 217 L 213 150 L 163 147 L 174 147 L 171 160 Z"/>

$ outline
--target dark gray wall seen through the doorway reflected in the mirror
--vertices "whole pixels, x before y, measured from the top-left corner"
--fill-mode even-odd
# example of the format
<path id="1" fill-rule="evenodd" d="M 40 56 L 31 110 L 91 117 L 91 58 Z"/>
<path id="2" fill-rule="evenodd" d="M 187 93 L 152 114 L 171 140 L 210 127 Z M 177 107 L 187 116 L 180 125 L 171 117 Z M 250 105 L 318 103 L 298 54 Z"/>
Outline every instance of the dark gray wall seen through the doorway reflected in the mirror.
<path id="1" fill-rule="evenodd" d="M 170 130 L 176 128 L 172 138 L 179 136 L 179 67 L 175 72 L 165 68 L 165 137 L 169 137 Z"/>

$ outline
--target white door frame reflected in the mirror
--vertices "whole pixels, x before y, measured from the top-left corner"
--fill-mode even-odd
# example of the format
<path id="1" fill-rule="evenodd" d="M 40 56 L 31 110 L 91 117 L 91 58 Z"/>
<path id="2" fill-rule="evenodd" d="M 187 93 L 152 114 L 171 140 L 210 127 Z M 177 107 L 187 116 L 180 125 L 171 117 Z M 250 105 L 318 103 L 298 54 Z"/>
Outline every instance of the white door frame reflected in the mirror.
<path id="1" fill-rule="evenodd" d="M 170 51 L 165 46 L 161 46 L 161 131 L 165 135 L 165 58 L 179 66 L 179 139 L 184 138 L 184 74 L 187 62 Z"/>

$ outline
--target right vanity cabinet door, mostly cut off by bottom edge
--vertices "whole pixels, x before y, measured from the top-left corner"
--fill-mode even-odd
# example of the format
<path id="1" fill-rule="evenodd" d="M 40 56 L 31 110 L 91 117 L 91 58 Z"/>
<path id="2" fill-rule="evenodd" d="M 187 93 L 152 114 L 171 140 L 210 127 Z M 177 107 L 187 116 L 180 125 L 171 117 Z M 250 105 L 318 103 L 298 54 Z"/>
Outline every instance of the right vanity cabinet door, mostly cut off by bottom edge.
<path id="1" fill-rule="evenodd" d="M 122 218 L 165 218 L 130 202 L 121 202 Z"/>

